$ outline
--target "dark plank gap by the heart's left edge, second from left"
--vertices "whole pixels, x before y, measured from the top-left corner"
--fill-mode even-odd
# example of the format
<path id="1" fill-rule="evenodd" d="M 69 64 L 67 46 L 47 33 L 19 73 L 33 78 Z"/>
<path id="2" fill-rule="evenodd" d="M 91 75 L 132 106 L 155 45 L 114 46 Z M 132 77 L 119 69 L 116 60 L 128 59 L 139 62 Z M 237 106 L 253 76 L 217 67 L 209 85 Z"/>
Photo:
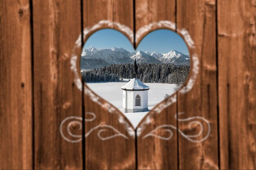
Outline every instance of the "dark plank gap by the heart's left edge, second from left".
<path id="1" fill-rule="evenodd" d="M 81 9 L 81 49 L 83 49 L 84 40 L 83 40 L 83 0 L 80 1 Z M 80 59 L 80 57 L 79 57 Z M 79 62 L 80 63 L 80 62 Z M 82 79 L 82 84 L 84 84 Z M 85 104 L 84 104 L 84 86 L 82 85 L 82 162 L 83 170 L 85 170 Z"/>

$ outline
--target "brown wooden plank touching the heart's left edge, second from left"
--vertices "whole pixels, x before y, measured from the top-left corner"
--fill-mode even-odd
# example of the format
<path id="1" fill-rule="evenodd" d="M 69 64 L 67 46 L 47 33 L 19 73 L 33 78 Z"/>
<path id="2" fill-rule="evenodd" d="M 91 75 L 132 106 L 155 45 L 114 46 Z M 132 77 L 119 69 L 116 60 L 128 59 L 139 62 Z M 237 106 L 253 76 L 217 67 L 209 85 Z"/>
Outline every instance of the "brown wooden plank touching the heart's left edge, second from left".
<path id="1" fill-rule="evenodd" d="M 82 117 L 82 93 L 70 59 L 81 33 L 79 0 L 33 1 L 35 169 L 82 169 L 82 142 L 61 137 L 60 124 Z M 77 61 L 79 65 L 79 61 Z M 72 124 L 82 135 L 79 124 Z"/>

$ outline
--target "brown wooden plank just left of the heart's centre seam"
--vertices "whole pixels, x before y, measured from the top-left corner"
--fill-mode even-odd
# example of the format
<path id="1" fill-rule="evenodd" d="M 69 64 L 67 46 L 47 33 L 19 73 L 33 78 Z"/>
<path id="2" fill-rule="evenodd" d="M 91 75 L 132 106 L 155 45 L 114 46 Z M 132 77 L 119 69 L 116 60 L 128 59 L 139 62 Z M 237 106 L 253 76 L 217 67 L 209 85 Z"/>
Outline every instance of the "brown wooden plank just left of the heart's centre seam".
<path id="1" fill-rule="evenodd" d="M 107 20 L 109 21 L 108 23 L 118 22 L 128 26 L 129 30 L 133 32 L 133 1 L 84 0 L 83 19 L 84 28 L 92 27 L 101 20 Z M 111 23 L 103 24 L 93 32 L 103 28 L 113 28 L 124 33 L 127 37 L 132 36 L 133 38 L 133 33 L 128 35 L 117 25 Z M 85 35 L 85 41 L 93 32 Z M 110 41 L 114 40 L 115 38 Z M 130 131 L 134 133 L 134 128 L 117 108 L 98 98 L 94 93 L 89 95 L 88 91 L 88 86 L 85 85 L 85 113 L 94 113 L 96 118 L 94 121 L 85 122 L 85 134 L 97 126 L 99 128 L 92 131 L 85 138 L 85 169 L 135 169 L 135 136 L 130 136 L 127 131 L 127 128 L 130 128 Z M 106 127 L 106 125 L 118 130 L 127 139 L 122 136 L 107 140 L 101 139 L 100 137 L 105 138 L 118 134 L 112 128 Z"/>

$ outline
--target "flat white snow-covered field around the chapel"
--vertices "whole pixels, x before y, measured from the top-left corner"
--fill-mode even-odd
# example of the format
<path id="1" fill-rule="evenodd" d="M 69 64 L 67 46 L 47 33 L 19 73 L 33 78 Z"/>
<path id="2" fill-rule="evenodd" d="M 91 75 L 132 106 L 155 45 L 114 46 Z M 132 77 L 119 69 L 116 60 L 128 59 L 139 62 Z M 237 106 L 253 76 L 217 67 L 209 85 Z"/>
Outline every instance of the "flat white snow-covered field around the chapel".
<path id="1" fill-rule="evenodd" d="M 87 85 L 103 99 L 106 99 L 108 102 L 117 107 L 121 112 L 122 109 L 122 89 L 121 86 L 124 86 L 127 82 L 90 82 Z M 149 86 L 148 90 L 148 109 L 151 110 L 159 102 L 164 99 L 165 94 L 173 94 L 175 84 L 164 84 L 164 83 L 144 83 Z M 136 113 L 124 113 L 126 117 L 131 121 L 132 125 L 136 127 L 141 119 L 148 112 L 136 112 Z"/>

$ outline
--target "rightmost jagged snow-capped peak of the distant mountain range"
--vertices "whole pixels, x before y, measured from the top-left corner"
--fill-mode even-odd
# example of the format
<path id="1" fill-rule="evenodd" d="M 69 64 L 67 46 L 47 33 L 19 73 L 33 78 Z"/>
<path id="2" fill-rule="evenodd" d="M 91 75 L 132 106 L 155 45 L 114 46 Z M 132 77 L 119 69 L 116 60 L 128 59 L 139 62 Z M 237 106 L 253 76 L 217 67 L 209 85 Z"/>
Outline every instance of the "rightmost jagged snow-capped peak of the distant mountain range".
<path id="1" fill-rule="evenodd" d="M 163 63 L 175 64 L 175 65 L 189 65 L 190 57 L 179 51 L 172 50 L 169 53 L 164 54 L 159 60 Z"/>

